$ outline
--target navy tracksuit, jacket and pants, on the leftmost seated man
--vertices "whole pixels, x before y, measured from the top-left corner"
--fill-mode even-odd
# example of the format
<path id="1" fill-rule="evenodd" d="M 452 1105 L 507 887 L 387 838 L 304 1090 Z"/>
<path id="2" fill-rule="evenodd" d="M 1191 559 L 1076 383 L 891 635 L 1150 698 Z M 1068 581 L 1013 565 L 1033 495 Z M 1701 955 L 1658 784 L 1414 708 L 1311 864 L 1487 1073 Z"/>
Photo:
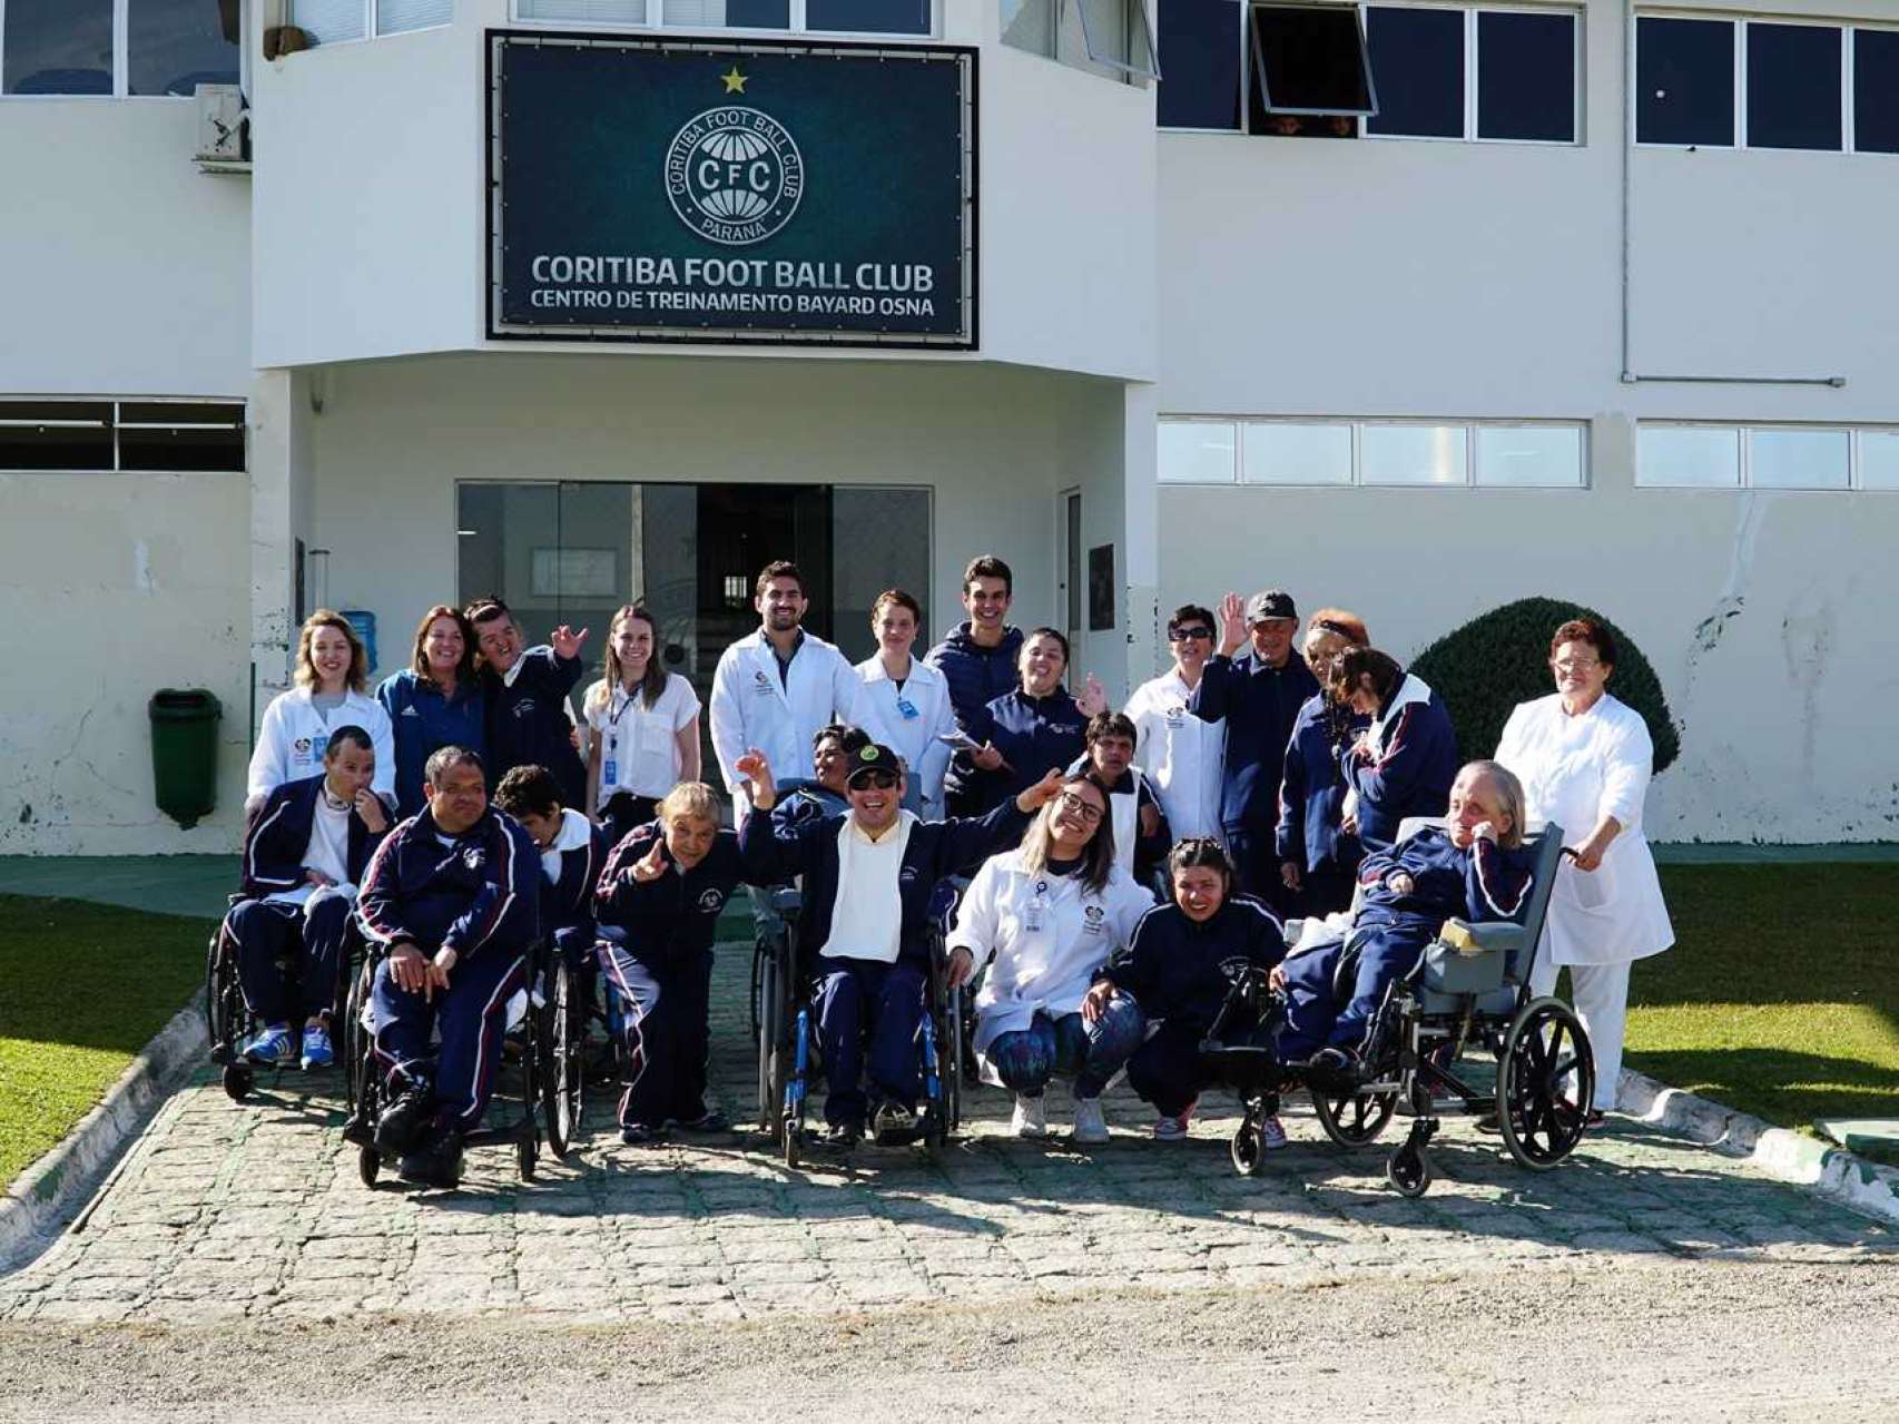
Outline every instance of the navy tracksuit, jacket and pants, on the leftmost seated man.
<path id="1" fill-rule="evenodd" d="M 344 934 L 349 928 L 349 900 L 340 894 L 313 894 L 304 906 L 272 904 L 266 894 L 304 885 L 304 853 L 323 796 L 323 775 L 291 780 L 273 790 L 256 813 L 243 841 L 243 896 L 224 917 L 237 944 L 237 978 L 245 1002 L 264 1023 L 292 1023 L 336 1002 L 342 974 Z M 351 885 L 363 871 L 382 832 L 372 832 L 349 811 L 346 870 Z M 277 961 L 296 961 L 296 980 L 287 982 Z"/>

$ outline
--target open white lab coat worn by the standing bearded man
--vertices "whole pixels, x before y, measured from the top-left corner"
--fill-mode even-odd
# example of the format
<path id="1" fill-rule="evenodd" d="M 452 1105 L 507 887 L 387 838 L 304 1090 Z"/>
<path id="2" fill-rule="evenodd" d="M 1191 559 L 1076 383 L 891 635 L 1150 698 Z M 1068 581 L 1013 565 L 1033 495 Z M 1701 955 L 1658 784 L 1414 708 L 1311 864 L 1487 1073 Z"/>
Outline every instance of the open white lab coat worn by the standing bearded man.
<path id="1" fill-rule="evenodd" d="M 752 746 L 779 782 L 815 777 L 811 739 L 832 721 L 855 723 L 860 697 L 856 670 L 817 634 L 805 634 L 784 682 L 763 628 L 735 642 L 712 674 L 712 752 L 725 790 L 739 797 L 739 758 Z"/>

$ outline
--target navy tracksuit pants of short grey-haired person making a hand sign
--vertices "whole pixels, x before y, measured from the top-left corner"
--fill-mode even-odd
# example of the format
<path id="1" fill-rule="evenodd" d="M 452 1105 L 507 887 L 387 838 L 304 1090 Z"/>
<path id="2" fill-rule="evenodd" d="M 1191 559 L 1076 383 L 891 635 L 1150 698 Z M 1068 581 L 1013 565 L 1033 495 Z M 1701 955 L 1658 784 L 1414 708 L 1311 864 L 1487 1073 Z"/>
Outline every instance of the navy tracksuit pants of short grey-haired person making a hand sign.
<path id="1" fill-rule="evenodd" d="M 600 970 L 619 999 L 627 1092 L 619 1124 L 659 1132 L 706 1115 L 706 1018 L 712 1002 L 712 951 L 655 972 L 627 946 L 600 944 Z"/>

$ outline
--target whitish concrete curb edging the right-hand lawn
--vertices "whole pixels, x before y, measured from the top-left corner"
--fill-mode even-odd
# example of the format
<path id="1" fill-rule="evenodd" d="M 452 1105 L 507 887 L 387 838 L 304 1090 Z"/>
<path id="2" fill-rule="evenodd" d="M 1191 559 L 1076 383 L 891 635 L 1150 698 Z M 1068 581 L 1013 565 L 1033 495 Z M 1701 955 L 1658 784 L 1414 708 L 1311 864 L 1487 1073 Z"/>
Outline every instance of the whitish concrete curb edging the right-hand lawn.
<path id="1" fill-rule="evenodd" d="M 1766 1175 L 1829 1202 L 1899 1223 L 1899 1168 L 1867 1162 L 1844 1147 L 1776 1128 L 1633 1069 L 1622 1069 L 1620 1088 L 1622 1111 L 1629 1116 L 1679 1132 L 1722 1156 L 1745 1158 Z"/>

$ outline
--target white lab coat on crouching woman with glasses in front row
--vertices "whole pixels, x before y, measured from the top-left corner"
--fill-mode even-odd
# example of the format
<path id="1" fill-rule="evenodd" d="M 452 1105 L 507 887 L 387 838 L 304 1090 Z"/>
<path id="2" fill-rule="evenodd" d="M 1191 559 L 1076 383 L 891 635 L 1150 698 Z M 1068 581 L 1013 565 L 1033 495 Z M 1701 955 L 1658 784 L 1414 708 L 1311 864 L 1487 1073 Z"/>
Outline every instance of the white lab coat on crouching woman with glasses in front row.
<path id="1" fill-rule="evenodd" d="M 1031 906 L 1041 900 L 1041 928 L 1029 928 Z M 989 1044 L 1018 1033 L 1035 1014 L 1079 1014 L 1094 972 L 1134 938 L 1155 896 L 1119 866 L 1101 890 L 1088 890 L 1073 875 L 1031 875 L 1022 851 L 989 856 L 957 906 L 951 949 L 968 949 L 980 968 L 995 963 L 976 993 L 976 1063 L 986 1082 L 1001 1086 L 989 1067 Z"/>

